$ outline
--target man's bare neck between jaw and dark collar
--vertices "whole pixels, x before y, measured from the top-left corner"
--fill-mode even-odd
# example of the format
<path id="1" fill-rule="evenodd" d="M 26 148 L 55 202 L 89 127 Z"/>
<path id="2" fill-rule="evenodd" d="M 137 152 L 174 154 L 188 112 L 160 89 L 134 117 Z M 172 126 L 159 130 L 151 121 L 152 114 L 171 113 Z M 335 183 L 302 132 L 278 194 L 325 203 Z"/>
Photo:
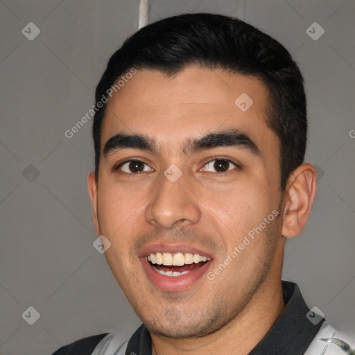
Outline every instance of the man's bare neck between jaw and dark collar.
<path id="1" fill-rule="evenodd" d="M 248 306 L 232 322 L 201 338 L 175 339 L 151 334 L 152 354 L 247 355 L 266 336 L 284 306 L 281 275 L 271 270 Z"/>

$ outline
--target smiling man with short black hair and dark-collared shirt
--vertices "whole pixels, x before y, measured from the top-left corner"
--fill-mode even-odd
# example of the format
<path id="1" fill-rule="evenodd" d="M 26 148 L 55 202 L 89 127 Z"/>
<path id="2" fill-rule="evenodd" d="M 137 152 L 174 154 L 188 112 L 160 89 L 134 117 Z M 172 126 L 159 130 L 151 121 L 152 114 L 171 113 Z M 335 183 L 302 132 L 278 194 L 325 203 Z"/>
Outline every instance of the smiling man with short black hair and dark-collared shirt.
<path id="1" fill-rule="evenodd" d="M 54 354 L 351 351 L 281 280 L 316 189 L 303 79 L 281 44 L 230 17 L 163 19 L 112 55 L 96 108 L 96 234 L 143 324 Z"/>

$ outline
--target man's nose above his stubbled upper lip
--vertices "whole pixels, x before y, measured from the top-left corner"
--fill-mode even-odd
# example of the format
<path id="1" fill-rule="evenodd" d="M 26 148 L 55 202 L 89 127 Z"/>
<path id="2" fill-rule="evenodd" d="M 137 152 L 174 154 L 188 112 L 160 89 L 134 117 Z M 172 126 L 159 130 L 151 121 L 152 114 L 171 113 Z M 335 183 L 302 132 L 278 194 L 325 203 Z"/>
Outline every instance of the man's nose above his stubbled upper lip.
<path id="1" fill-rule="evenodd" d="M 162 175 L 162 182 L 146 207 L 146 220 L 155 227 L 191 225 L 201 218 L 200 200 L 184 174 L 175 182 Z"/>

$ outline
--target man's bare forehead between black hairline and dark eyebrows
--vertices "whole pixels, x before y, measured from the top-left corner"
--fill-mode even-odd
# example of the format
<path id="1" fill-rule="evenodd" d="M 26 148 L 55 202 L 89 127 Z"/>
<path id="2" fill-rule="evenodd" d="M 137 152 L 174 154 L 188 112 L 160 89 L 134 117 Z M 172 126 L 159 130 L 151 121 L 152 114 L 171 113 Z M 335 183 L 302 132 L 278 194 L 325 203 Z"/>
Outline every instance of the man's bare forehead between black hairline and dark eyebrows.
<path id="1" fill-rule="evenodd" d="M 268 92 L 260 80 L 221 69 L 187 67 L 167 76 L 138 70 L 107 103 L 102 144 L 119 132 L 154 137 L 173 149 L 188 137 L 236 128 L 261 146 L 277 137 L 266 125 Z"/>

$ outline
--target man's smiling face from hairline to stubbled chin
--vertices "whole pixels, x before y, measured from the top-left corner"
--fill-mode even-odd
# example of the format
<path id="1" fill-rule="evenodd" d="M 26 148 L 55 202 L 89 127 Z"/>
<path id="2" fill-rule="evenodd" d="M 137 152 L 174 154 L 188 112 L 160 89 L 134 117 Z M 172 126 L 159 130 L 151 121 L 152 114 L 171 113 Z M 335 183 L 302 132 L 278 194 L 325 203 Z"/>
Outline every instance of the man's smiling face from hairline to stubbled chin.
<path id="1" fill-rule="evenodd" d="M 256 78 L 198 67 L 170 77 L 139 70 L 107 103 L 97 186 L 92 178 L 96 231 L 155 334 L 213 333 L 279 266 L 279 140 L 267 103 Z"/>

